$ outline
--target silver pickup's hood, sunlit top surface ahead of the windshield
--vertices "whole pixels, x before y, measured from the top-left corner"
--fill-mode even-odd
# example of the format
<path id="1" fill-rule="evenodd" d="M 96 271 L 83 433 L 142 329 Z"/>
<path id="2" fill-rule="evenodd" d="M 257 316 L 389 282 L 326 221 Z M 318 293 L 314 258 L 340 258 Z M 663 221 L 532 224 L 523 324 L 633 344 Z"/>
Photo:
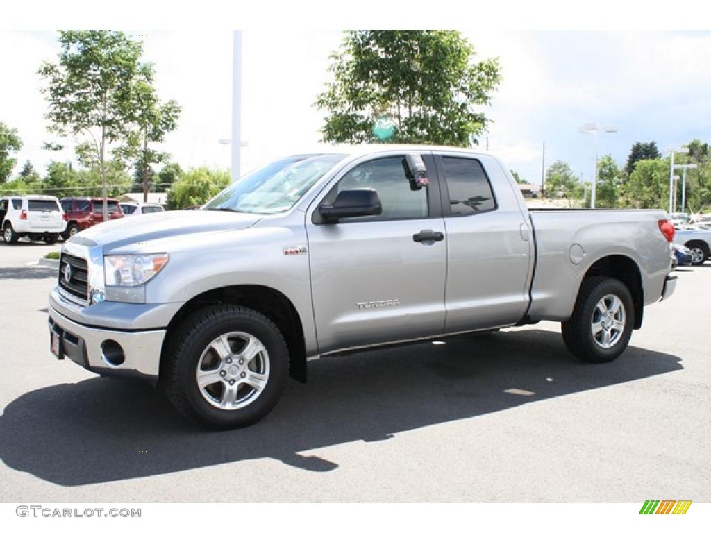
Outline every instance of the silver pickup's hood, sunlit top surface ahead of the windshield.
<path id="1" fill-rule="evenodd" d="M 244 230 L 261 218 L 262 215 L 230 211 L 166 211 L 103 222 L 82 231 L 80 236 L 102 244 L 109 251 L 166 237 Z"/>

